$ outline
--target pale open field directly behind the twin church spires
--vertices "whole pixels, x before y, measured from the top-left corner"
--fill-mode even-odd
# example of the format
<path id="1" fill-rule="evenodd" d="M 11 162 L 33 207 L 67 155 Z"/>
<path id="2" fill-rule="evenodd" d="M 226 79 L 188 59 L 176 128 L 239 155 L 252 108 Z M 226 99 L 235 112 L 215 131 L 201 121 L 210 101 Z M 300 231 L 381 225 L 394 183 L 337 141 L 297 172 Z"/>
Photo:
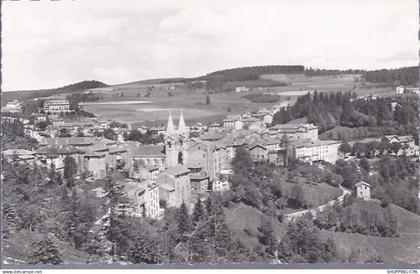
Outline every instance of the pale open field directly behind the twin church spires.
<path id="1" fill-rule="evenodd" d="M 143 122 L 150 125 L 161 125 L 168 118 L 168 110 L 173 110 L 174 119 L 178 118 L 179 109 L 184 110 L 187 122 L 200 121 L 212 123 L 221 121 L 227 114 L 256 111 L 261 107 L 273 104 L 251 103 L 241 98 L 243 93 L 227 92 L 210 94 L 210 105 L 206 105 L 206 91 L 187 90 L 182 85 L 175 90 L 168 90 L 167 85 L 154 85 L 150 97 L 147 86 L 132 84 L 114 87 L 112 92 L 104 92 L 104 100 L 98 104 L 83 106 L 87 111 L 99 116 L 118 120 L 125 123 Z M 173 96 L 168 96 L 171 92 Z M 123 97 L 121 98 L 121 93 Z M 118 94 L 118 98 L 113 97 Z M 138 97 L 138 95 L 140 97 Z M 125 101 L 142 101 L 136 104 L 127 104 Z M 144 102 L 146 101 L 146 102 Z M 110 104 L 103 104 L 112 102 Z M 117 104 L 120 102 L 119 104 Z"/>

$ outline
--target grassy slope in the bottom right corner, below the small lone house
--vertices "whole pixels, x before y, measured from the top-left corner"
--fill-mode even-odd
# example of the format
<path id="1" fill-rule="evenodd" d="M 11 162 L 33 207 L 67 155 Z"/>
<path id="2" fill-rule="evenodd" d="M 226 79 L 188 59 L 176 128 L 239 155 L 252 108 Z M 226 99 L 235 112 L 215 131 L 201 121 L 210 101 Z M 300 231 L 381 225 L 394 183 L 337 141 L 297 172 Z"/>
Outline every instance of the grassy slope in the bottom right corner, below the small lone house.
<path id="1" fill-rule="evenodd" d="M 399 206 L 391 205 L 398 217 L 399 237 L 373 237 L 355 233 L 321 231 L 337 243 L 340 256 L 347 258 L 354 250 L 360 262 L 381 256 L 384 262 L 420 263 L 420 216 Z"/>

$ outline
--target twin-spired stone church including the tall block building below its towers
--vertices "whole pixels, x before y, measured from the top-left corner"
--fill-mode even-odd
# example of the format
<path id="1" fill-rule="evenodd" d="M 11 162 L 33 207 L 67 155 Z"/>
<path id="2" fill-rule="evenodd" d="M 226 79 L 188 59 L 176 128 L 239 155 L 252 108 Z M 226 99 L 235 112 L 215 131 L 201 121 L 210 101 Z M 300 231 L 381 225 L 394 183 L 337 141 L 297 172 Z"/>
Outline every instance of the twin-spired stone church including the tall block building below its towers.
<path id="1" fill-rule="evenodd" d="M 182 110 L 178 127 L 169 111 L 165 134 L 165 170 L 157 176 L 159 196 L 163 207 L 180 207 L 191 203 L 190 171 L 188 169 L 189 129 L 185 125 Z"/>

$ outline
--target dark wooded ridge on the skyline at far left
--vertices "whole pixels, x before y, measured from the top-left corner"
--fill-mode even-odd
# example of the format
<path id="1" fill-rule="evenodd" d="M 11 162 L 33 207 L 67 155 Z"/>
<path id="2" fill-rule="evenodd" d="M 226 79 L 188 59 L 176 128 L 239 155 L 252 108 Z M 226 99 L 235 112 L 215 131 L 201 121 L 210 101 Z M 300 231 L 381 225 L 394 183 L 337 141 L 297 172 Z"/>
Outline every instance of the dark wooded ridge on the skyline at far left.
<path id="1" fill-rule="evenodd" d="M 96 81 L 96 80 L 87 80 L 82 81 L 70 85 L 66 85 L 59 88 L 53 89 L 40 89 L 40 90 L 20 90 L 20 91 L 13 91 L 13 92 L 3 92 L 1 95 L 1 103 L 2 105 L 6 104 L 12 100 L 25 100 L 31 99 L 36 97 L 47 97 L 51 95 L 61 94 L 61 93 L 72 93 L 77 91 L 84 91 L 87 89 L 92 88 L 101 88 L 106 87 L 107 84 Z"/>

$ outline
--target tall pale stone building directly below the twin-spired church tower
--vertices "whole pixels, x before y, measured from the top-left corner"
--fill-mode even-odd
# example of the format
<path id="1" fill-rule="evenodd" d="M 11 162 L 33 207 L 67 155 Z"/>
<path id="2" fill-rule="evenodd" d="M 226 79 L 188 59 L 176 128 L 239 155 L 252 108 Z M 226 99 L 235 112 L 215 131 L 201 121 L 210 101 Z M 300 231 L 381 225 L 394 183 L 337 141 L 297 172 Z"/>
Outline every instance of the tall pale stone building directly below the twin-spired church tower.
<path id="1" fill-rule="evenodd" d="M 167 168 L 157 176 L 159 199 L 166 207 L 180 207 L 191 202 L 190 171 L 184 166 Z"/>

